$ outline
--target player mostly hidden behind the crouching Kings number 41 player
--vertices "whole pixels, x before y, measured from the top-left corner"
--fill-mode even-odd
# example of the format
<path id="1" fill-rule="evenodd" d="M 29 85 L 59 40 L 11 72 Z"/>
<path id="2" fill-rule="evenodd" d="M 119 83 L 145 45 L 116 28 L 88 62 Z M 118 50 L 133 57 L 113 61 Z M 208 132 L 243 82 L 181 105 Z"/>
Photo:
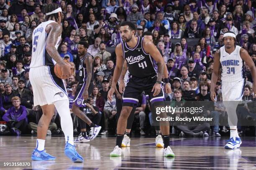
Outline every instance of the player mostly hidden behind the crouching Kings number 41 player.
<path id="1" fill-rule="evenodd" d="M 142 37 L 144 37 L 144 39 L 147 39 L 151 42 L 153 42 L 153 35 L 151 32 L 149 31 L 146 31 L 146 32 L 143 32 L 142 34 Z M 161 54 L 161 56 L 163 57 L 163 53 L 162 51 L 157 48 Z M 120 93 L 123 93 L 123 90 L 125 89 L 125 82 L 124 82 L 124 77 L 125 77 L 125 74 L 128 70 L 128 67 L 127 67 L 127 62 L 125 61 L 123 63 L 123 69 L 122 69 L 122 73 L 120 75 L 120 84 L 119 84 L 119 92 Z M 167 70 L 167 66 L 166 64 L 164 65 L 164 75 L 163 75 L 163 78 L 164 78 L 164 91 L 165 93 L 169 94 L 172 92 L 172 89 L 171 89 L 171 85 L 169 83 L 169 75 L 168 75 L 168 70 Z M 149 101 L 150 103 L 150 101 Z M 132 126 L 132 123 L 133 123 L 133 120 L 134 120 L 134 112 L 135 112 L 135 109 L 133 109 L 131 111 L 131 114 L 129 115 L 128 117 L 128 120 L 127 120 L 127 128 L 125 130 L 125 135 L 124 135 L 124 139 L 123 139 L 123 142 L 122 142 L 122 147 L 127 147 L 127 146 L 130 146 L 130 133 L 131 133 L 131 126 Z M 163 143 L 163 140 L 162 140 L 162 137 L 161 137 L 161 132 L 160 132 L 160 127 L 159 125 L 155 125 L 155 130 L 156 130 L 156 147 L 158 148 L 163 148 L 164 147 L 164 143 Z"/>

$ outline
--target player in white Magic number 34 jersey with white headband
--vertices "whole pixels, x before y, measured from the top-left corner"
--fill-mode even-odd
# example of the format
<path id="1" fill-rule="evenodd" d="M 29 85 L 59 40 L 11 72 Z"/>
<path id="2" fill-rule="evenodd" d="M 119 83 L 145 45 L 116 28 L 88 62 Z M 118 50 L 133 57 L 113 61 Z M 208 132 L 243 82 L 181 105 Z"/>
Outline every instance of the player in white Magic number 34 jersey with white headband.
<path id="1" fill-rule="evenodd" d="M 230 126 L 230 139 L 225 149 L 236 149 L 241 145 L 241 139 L 237 132 L 236 107 L 242 100 L 245 86 L 244 61 L 250 67 L 253 77 L 253 91 L 256 97 L 256 67 L 248 52 L 242 47 L 235 45 L 236 35 L 233 32 L 225 32 L 224 46 L 215 53 L 214 67 L 211 80 L 211 99 L 215 101 L 214 87 L 218 80 L 219 70 L 222 67 L 222 96 L 223 104 L 228 113 L 228 124 Z"/>

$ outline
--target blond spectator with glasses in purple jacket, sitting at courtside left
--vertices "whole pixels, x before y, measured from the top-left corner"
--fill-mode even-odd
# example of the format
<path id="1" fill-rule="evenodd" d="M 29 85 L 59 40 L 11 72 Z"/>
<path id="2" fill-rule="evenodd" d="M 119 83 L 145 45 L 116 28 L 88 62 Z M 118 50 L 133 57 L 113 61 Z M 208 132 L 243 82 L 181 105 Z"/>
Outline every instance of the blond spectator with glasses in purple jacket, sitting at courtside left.
<path id="1" fill-rule="evenodd" d="M 20 135 L 25 133 L 28 125 L 26 107 L 20 105 L 20 97 L 12 97 L 13 107 L 7 110 L 3 115 L 3 120 L 7 123 L 12 134 Z"/>

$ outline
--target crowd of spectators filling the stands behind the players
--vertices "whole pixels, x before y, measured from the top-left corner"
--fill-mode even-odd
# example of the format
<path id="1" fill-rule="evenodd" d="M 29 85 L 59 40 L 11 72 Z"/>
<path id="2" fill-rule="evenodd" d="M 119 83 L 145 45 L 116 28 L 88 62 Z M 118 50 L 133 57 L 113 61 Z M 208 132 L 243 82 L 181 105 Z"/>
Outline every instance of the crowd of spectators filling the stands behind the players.
<path id="1" fill-rule="evenodd" d="M 33 105 L 33 89 L 29 82 L 29 65 L 33 46 L 32 32 L 45 21 L 46 4 L 58 3 L 62 9 L 62 34 L 58 51 L 75 67 L 66 80 L 70 110 L 77 84 L 80 40 L 89 44 L 87 52 L 94 57 L 94 90 L 84 107 L 92 122 L 102 125 L 102 135 L 115 127 L 122 99 L 116 90 L 113 100 L 107 99 L 115 68 L 115 46 L 122 41 L 119 24 L 131 21 L 136 35 L 152 33 L 154 44 L 161 50 L 169 72 L 171 101 L 210 101 L 214 53 L 223 46 L 223 34 L 232 31 L 236 43 L 246 49 L 256 63 L 255 11 L 252 0 L 0 0 L 0 134 L 36 134 L 41 107 Z M 174 43 L 175 42 L 175 43 Z M 252 76 L 246 69 L 243 100 L 252 99 Z M 255 80 L 254 80 L 255 81 Z M 221 97 L 221 80 L 215 85 L 218 102 L 208 107 L 207 115 L 215 125 L 176 126 L 172 132 L 184 136 L 220 136 L 228 126 L 219 127 L 225 107 Z M 142 94 L 142 98 L 143 94 Z M 151 112 L 148 102 L 140 102 L 133 129 L 149 134 Z M 247 106 L 244 106 L 245 108 Z M 119 109 L 120 110 L 120 109 Z M 245 112 L 240 110 L 240 112 Z M 255 113 L 255 112 L 254 112 Z M 148 116 L 149 115 L 149 116 Z M 244 115 L 243 115 L 244 116 Z M 254 117 L 247 109 L 245 117 Z M 80 122 L 72 114 L 74 133 Z M 135 119 L 135 120 L 136 120 Z M 210 130 L 212 129 L 212 130 Z M 239 127 L 243 134 L 245 127 Z M 115 128 L 114 128 L 115 133 Z M 55 112 L 48 135 L 61 134 L 60 119 Z"/>

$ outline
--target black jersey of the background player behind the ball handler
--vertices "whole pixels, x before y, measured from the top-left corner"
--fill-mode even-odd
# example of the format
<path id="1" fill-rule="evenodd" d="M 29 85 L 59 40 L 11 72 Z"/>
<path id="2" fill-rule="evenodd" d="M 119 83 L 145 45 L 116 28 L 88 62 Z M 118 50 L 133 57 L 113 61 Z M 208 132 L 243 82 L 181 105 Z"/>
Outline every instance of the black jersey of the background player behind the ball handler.
<path id="1" fill-rule="evenodd" d="M 80 63 L 79 63 L 79 82 L 80 83 L 85 83 L 87 79 L 87 70 L 86 70 L 86 64 L 84 64 L 84 60 L 86 57 L 92 57 L 89 53 L 86 53 L 84 57 L 80 58 Z M 92 57 L 93 58 L 93 57 Z M 92 65 L 92 79 L 93 81 L 93 65 Z"/>

